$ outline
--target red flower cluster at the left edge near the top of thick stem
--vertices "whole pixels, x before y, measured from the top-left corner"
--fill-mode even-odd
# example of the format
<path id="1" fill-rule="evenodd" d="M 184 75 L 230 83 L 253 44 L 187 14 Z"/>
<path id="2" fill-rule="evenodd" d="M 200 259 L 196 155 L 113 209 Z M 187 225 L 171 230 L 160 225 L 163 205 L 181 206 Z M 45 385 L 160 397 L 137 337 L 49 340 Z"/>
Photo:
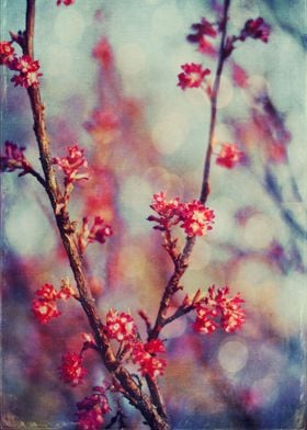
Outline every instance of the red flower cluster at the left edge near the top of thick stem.
<path id="1" fill-rule="evenodd" d="M 18 71 L 19 75 L 14 75 L 11 79 L 15 87 L 38 87 L 38 78 L 42 76 L 39 63 L 30 55 L 19 57 L 12 42 L 0 42 L 0 64 L 7 66 L 10 70 Z"/>

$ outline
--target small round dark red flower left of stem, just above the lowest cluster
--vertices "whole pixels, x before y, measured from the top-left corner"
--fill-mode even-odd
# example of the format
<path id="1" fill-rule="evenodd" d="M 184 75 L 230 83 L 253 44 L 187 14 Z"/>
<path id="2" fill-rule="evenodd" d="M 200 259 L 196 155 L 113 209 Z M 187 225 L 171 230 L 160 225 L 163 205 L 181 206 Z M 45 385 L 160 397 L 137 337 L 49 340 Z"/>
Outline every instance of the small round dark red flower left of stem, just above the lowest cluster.
<path id="1" fill-rule="evenodd" d="M 87 374 L 87 370 L 82 366 L 82 355 L 76 354 L 75 352 L 67 352 L 61 358 L 59 377 L 66 384 L 71 384 L 73 387 L 79 385 Z"/>

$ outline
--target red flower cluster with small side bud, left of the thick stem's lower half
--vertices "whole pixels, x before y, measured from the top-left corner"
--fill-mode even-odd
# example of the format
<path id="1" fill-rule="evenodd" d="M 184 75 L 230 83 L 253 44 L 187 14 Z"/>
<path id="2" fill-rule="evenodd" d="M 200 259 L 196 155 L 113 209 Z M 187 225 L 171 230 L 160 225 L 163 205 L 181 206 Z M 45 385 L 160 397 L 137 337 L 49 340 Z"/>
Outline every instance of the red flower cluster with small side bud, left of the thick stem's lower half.
<path id="1" fill-rule="evenodd" d="M 71 285 L 65 280 L 62 280 L 59 291 L 52 284 L 44 284 L 35 294 L 38 298 L 33 299 L 32 312 L 35 318 L 42 324 L 47 324 L 60 315 L 57 308 L 58 299 L 66 301 L 71 296 L 76 296 Z"/>

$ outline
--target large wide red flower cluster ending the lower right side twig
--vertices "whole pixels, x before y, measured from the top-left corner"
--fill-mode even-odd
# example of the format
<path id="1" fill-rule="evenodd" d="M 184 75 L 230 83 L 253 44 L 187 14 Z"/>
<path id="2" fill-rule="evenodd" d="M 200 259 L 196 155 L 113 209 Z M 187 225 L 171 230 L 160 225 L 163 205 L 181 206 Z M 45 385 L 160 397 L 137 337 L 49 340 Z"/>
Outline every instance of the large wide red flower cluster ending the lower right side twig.
<path id="1" fill-rule="evenodd" d="M 239 293 L 234 297 L 227 297 L 228 294 L 228 286 L 217 291 L 214 285 L 208 288 L 208 295 L 195 304 L 195 331 L 212 333 L 221 327 L 227 332 L 234 332 L 242 326 L 246 312 L 241 308 L 241 304 L 245 301 Z"/>

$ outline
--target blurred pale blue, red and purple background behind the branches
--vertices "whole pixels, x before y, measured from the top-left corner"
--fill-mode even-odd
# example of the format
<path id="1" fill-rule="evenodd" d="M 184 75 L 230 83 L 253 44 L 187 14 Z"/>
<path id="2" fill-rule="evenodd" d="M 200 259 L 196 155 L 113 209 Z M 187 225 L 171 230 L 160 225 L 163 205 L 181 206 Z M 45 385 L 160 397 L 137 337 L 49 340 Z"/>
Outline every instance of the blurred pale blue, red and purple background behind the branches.
<path id="1" fill-rule="evenodd" d="M 90 166 L 91 179 L 72 193 L 71 217 L 80 223 L 100 215 L 114 229 L 107 244 L 87 250 L 89 283 L 102 315 L 110 307 L 129 310 L 145 333 L 137 312 L 154 320 L 172 271 L 160 234 L 146 220 L 151 197 L 164 191 L 170 199 L 197 199 L 208 134 L 206 95 L 182 91 L 177 76 L 192 61 L 215 70 L 215 55 L 197 52 L 186 35 L 203 16 L 216 22 L 220 4 L 36 3 L 35 59 L 44 73 L 53 155 L 64 157 L 78 144 Z M 3 41 L 24 29 L 25 1 L 1 5 Z M 241 292 L 247 321 L 236 335 L 194 333 L 193 316 L 166 328 L 168 367 L 159 382 L 175 429 L 304 428 L 306 4 L 232 0 L 229 34 L 258 16 L 272 34 L 268 44 L 248 39 L 235 49 L 221 79 L 215 132 L 216 151 L 220 143 L 236 143 L 246 163 L 227 170 L 213 162 L 207 204 L 216 223 L 197 240 L 183 279 L 191 295 L 212 284 Z M 1 144 L 26 146 L 39 170 L 25 90 L 13 88 L 9 70 L 1 73 Z M 82 386 L 58 380 L 62 352 L 78 352 L 89 328 L 76 303 L 65 303 L 49 325 L 34 319 L 34 292 L 44 283 L 59 287 L 71 275 L 41 185 L 30 176 L 1 179 L 4 428 L 72 429 L 76 401 L 107 374 L 89 352 L 92 371 Z M 175 296 L 174 305 L 181 299 Z M 127 428 L 145 428 L 127 403 L 123 408 Z"/>

